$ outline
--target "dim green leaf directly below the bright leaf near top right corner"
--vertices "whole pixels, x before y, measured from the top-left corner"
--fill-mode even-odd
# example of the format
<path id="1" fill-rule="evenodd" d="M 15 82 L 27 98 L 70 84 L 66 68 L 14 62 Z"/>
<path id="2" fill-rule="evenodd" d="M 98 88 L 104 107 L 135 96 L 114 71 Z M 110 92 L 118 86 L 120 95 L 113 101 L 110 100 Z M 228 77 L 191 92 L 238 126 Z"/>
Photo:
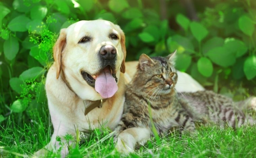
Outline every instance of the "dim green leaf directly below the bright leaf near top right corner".
<path id="1" fill-rule="evenodd" d="M 248 48 L 244 42 L 238 39 L 229 39 L 225 41 L 224 47 L 232 52 L 236 57 L 243 56 Z"/>

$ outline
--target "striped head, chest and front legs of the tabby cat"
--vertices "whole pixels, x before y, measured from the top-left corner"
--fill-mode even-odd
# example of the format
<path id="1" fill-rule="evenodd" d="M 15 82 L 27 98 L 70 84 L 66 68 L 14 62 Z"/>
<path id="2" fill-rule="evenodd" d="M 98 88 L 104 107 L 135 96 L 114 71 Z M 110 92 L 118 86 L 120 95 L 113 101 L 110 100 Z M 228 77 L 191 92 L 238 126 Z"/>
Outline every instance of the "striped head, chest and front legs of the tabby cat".
<path id="1" fill-rule="evenodd" d="M 149 105 L 158 132 L 168 133 L 172 127 L 193 131 L 193 119 L 183 107 L 187 106 L 184 105 L 187 103 L 179 100 L 174 89 L 178 79 L 174 56 L 152 59 L 145 55 L 142 57 L 146 59 L 142 60 L 140 57 L 137 72 L 127 85 L 124 112 L 116 128 L 117 135 L 132 127 L 151 128 Z M 170 84 L 167 84 L 168 82 Z"/>

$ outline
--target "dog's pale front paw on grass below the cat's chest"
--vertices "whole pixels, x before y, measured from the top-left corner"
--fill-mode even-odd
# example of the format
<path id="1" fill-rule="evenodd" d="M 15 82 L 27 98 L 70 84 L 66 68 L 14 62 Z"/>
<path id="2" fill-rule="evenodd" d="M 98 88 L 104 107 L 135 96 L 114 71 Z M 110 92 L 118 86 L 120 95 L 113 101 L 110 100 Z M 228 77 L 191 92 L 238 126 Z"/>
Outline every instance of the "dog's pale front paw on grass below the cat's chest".
<path id="1" fill-rule="evenodd" d="M 136 143 L 144 144 L 150 139 L 150 133 L 146 127 L 132 127 L 122 131 L 117 139 L 117 151 L 122 154 L 133 152 Z"/>

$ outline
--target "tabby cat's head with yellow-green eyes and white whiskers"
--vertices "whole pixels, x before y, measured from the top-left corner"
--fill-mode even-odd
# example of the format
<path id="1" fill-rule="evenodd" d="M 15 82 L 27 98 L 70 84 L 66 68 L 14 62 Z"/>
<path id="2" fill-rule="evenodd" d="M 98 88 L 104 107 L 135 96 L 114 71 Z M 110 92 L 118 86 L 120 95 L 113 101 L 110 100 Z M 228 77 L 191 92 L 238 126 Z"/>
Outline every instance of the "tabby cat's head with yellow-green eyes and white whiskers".
<path id="1" fill-rule="evenodd" d="M 152 57 L 142 54 L 139 57 L 136 77 L 144 82 L 145 92 L 168 94 L 177 83 L 175 66 L 176 51 L 167 57 Z M 155 88 L 155 90 L 152 90 Z M 151 95 L 151 94 L 149 94 Z"/>

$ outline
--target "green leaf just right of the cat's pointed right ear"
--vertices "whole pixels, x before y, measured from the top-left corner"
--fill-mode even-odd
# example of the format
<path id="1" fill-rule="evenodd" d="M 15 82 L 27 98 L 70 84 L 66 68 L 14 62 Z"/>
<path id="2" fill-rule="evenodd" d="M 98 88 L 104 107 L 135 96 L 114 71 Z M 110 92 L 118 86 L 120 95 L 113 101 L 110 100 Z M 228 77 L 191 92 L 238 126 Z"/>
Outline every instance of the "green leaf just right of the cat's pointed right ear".
<path id="1" fill-rule="evenodd" d="M 177 54 L 176 56 L 175 68 L 185 72 L 190 66 L 192 57 L 188 54 Z"/>

